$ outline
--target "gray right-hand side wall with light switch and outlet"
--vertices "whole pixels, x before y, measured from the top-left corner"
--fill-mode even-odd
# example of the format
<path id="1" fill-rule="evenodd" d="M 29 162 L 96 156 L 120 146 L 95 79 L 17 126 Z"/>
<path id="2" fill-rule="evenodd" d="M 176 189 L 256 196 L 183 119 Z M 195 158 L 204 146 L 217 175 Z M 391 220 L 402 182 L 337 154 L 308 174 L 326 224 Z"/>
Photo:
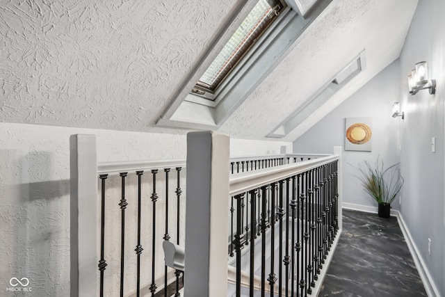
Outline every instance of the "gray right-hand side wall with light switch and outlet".
<path id="1" fill-rule="evenodd" d="M 401 52 L 401 104 L 406 117 L 401 127 L 401 163 L 405 177 L 401 213 L 412 239 L 434 280 L 439 296 L 444 285 L 444 100 L 445 1 L 419 1 Z M 437 79 L 435 95 L 407 93 L 407 73 L 427 61 L 428 75 Z M 436 138 L 436 152 L 431 138 Z M 428 255 L 428 238 L 431 255 Z"/>

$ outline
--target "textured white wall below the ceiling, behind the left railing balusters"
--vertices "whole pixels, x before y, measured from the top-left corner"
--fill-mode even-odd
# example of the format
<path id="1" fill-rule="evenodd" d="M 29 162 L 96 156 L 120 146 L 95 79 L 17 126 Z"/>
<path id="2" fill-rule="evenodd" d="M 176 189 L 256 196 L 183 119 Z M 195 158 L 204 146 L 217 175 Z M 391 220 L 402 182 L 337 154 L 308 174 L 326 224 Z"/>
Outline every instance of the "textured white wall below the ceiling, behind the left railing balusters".
<path id="1" fill-rule="evenodd" d="M 8 294 L 5 293 L 6 287 L 10 287 L 9 280 L 13 277 L 29 278 L 29 286 L 35 296 L 69 295 L 71 134 L 96 134 L 98 161 L 186 158 L 186 137 L 182 135 L 1 123 L 1 296 Z M 282 144 L 235 140 L 232 153 L 240 156 L 251 150 L 255 154 L 275 154 L 280 152 Z M 145 173 L 145 176 L 148 174 Z M 174 175 L 175 172 L 171 172 L 170 178 Z M 161 198 L 165 195 L 165 184 L 162 183 L 164 176 L 164 172 L 159 172 L 161 184 L 156 192 Z M 131 179 L 132 182 L 130 177 L 127 179 L 132 184 L 127 189 L 127 195 L 135 197 L 136 179 Z M 107 204 L 107 209 L 113 210 L 110 216 L 112 223 L 108 225 L 107 233 L 115 237 L 115 242 L 107 248 L 109 259 L 111 255 L 119 255 L 120 252 L 119 233 L 116 231 L 120 230 L 120 177 L 110 177 L 107 188 L 110 197 L 115 197 Z M 172 186 L 170 189 L 173 189 Z M 147 187 L 143 191 L 151 194 L 152 189 Z M 165 203 L 161 202 L 161 198 L 158 207 L 162 214 Z M 150 204 L 147 200 L 143 204 L 149 214 Z M 172 210 L 175 210 L 174 205 Z M 136 213 L 134 204 L 127 213 L 127 217 Z M 149 225 L 149 222 L 144 224 Z M 135 220 L 129 219 L 127 227 L 129 230 L 135 229 Z M 159 222 L 158 230 L 158 234 L 163 234 L 163 222 Z M 151 234 L 150 227 L 146 234 Z M 170 236 L 175 238 L 175 233 L 172 232 Z M 144 242 L 143 245 L 147 247 L 144 255 L 148 255 L 150 243 Z M 128 243 L 129 255 L 134 253 L 133 246 L 136 246 L 134 242 Z M 156 262 L 160 266 L 163 256 L 160 251 L 158 255 Z M 128 266 L 133 264 L 131 261 L 127 263 Z M 118 269 L 118 262 L 108 261 L 107 269 Z M 112 278 L 117 279 L 118 273 L 113 273 Z M 128 289 L 131 286 L 133 284 Z M 13 293 L 9 296 L 13 296 Z"/>

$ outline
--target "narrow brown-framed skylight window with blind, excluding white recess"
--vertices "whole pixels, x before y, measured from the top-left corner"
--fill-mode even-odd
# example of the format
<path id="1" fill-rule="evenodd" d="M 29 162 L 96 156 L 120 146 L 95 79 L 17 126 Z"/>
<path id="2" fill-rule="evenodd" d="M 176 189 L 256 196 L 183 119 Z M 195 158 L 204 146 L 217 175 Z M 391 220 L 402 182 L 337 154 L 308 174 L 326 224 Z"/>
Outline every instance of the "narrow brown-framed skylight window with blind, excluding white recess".
<path id="1" fill-rule="evenodd" d="M 283 8 L 284 6 L 279 0 L 259 0 L 197 81 L 192 93 L 213 100 L 213 96 L 204 95 L 216 92 L 227 75 L 234 70 L 234 67 L 268 29 L 268 26 L 277 19 Z"/>

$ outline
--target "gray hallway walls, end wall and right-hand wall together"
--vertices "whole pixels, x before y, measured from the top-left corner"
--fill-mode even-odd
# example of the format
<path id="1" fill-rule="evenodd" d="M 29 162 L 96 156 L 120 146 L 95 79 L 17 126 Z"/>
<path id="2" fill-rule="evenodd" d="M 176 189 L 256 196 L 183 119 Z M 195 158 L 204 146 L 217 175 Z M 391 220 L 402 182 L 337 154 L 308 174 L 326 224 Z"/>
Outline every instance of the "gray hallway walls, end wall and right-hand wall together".
<path id="1" fill-rule="evenodd" d="M 350 175 L 348 165 L 360 159 L 373 160 L 380 154 L 385 163 L 401 162 L 405 185 L 400 209 L 426 275 L 432 279 L 430 291 L 445 296 L 445 1 L 419 1 L 410 31 L 398 61 L 389 65 L 362 89 L 332 111 L 293 143 L 293 152 L 331 152 L 344 146 L 344 119 L 373 117 L 373 151 L 344 152 L 343 201 L 372 205 Z M 428 62 L 430 79 L 437 80 L 435 95 L 423 90 L 415 96 L 407 92 L 407 74 L 419 61 Z M 405 120 L 391 118 L 391 104 L 401 102 Z M 436 152 L 431 150 L 436 139 Z M 401 145 L 401 152 L 398 145 Z M 431 239 L 431 255 L 428 254 Z"/>

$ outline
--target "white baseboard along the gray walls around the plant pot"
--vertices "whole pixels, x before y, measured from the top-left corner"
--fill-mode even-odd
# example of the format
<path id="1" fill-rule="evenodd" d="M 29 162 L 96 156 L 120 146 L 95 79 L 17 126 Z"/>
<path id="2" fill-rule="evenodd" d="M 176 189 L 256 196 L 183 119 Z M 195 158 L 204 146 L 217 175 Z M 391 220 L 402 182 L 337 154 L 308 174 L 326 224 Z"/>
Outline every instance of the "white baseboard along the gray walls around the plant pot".
<path id="1" fill-rule="evenodd" d="M 369 212 L 371 214 L 378 213 L 378 207 L 370 207 L 366 205 L 359 205 L 353 203 L 345 203 L 341 204 L 343 209 L 351 209 L 357 211 Z M 401 227 L 401 231 L 403 233 L 403 237 L 407 243 L 408 249 L 412 255 L 412 259 L 414 260 L 414 264 L 416 265 L 417 271 L 419 272 L 419 276 L 423 282 L 423 287 L 425 287 L 426 294 L 428 297 L 439 297 L 439 290 L 437 289 L 434 280 L 432 280 L 430 272 L 426 267 L 425 262 L 423 262 L 423 258 L 419 252 L 419 249 L 416 246 L 416 243 L 412 240 L 412 236 L 410 234 L 410 230 L 408 230 L 407 225 L 405 224 L 405 220 L 403 220 L 403 216 L 400 211 L 391 209 L 391 216 L 395 216 L 398 221 L 398 225 Z"/>

